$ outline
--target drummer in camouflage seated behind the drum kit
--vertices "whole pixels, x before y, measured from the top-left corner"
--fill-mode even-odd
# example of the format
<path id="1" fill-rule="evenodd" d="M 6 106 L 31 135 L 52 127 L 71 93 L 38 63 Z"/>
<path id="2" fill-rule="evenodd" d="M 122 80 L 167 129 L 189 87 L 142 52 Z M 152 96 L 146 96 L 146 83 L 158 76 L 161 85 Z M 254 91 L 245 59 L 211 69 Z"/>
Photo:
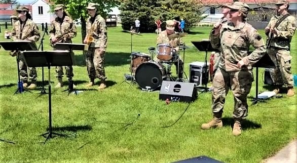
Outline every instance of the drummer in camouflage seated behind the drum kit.
<path id="1" fill-rule="evenodd" d="M 171 55 L 171 58 L 169 61 L 172 61 L 176 67 L 176 72 L 178 72 L 178 78 L 182 78 L 183 74 L 183 61 L 179 56 L 179 45 L 183 45 L 182 39 L 180 37 L 176 37 L 174 35 L 174 21 L 173 20 L 167 20 L 166 21 L 166 30 L 161 31 L 159 33 L 157 38 L 157 53 L 165 52 L 168 53 L 168 55 Z M 170 36 L 171 35 L 171 36 Z M 173 55 L 177 55 L 177 58 Z M 163 53 L 164 54 L 164 53 Z M 161 54 L 161 55 L 163 55 Z M 157 54 L 157 61 L 163 61 L 161 57 L 158 57 Z M 159 59 L 160 58 L 160 59 Z M 166 57 L 165 57 L 166 58 Z M 167 61 L 168 62 L 168 61 Z M 178 71 L 177 71 L 178 70 Z"/>

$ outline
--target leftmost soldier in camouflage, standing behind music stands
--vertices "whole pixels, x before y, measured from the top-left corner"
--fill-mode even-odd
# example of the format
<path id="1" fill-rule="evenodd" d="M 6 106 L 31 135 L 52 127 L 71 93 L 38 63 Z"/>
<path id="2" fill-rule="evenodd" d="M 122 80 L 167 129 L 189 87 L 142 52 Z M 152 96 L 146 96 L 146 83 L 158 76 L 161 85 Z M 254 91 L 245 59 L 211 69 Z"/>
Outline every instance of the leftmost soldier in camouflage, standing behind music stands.
<path id="1" fill-rule="evenodd" d="M 12 40 L 29 40 L 30 42 L 37 42 L 40 38 L 40 32 L 36 24 L 31 20 L 29 9 L 27 7 L 19 7 L 17 12 L 19 20 L 13 24 L 11 32 Z M 27 66 L 24 62 L 24 56 L 21 53 L 19 53 L 18 56 L 20 78 L 23 81 L 23 87 L 27 89 L 35 89 L 37 79 L 35 67 L 28 67 L 29 79 L 31 80 L 31 84 L 28 87 L 28 73 Z"/>

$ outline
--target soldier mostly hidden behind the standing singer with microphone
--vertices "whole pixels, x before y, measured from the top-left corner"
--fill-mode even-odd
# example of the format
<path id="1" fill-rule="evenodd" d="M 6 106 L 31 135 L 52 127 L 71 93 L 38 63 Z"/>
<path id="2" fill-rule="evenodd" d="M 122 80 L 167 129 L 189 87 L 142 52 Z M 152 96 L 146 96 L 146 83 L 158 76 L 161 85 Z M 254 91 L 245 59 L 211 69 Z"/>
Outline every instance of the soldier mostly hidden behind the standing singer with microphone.
<path id="1" fill-rule="evenodd" d="M 227 4 L 224 4 L 221 6 L 221 13 L 223 14 L 223 17 L 220 18 L 219 22 L 215 23 L 215 26 L 219 26 L 219 24 L 227 24 L 228 23 L 228 13 L 229 13 L 229 8 L 227 7 Z M 215 71 L 218 68 L 218 63 L 219 63 L 219 57 L 220 53 L 219 52 L 211 52 L 210 57 L 214 57 L 213 61 L 213 72 L 210 74 L 210 80 L 213 80 Z"/>

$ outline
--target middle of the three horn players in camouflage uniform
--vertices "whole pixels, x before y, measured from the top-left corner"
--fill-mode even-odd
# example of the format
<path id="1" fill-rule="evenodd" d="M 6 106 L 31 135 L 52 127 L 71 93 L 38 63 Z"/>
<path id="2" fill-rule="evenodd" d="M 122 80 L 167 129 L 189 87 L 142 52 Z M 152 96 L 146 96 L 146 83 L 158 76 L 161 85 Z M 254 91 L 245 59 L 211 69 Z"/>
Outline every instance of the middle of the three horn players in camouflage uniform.
<path id="1" fill-rule="evenodd" d="M 72 19 L 64 11 L 64 5 L 56 5 L 54 10 L 57 17 L 51 22 L 49 30 L 51 45 L 54 47 L 54 44 L 56 43 L 72 43 L 71 38 L 77 35 L 75 23 L 73 23 Z M 72 66 L 65 66 L 65 70 L 69 80 L 70 77 L 73 77 Z M 62 77 L 64 75 L 62 66 L 56 67 L 56 74 L 58 84 L 55 88 L 61 88 L 63 86 Z M 74 84 L 73 88 L 75 88 Z"/>

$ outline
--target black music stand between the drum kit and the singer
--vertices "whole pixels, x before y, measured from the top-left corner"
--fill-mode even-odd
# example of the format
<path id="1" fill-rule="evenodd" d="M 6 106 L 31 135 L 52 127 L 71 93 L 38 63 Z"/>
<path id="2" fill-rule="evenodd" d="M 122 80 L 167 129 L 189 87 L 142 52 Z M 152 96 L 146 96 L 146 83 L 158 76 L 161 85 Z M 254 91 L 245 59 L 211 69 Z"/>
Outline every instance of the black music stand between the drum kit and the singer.
<path id="1" fill-rule="evenodd" d="M 205 52 L 205 58 L 204 58 L 204 71 L 205 73 L 207 72 L 207 52 L 209 51 L 215 51 L 215 52 L 219 52 L 219 50 L 217 49 L 213 49 L 209 40 L 202 40 L 200 42 L 194 42 L 191 41 L 191 43 L 201 52 Z M 203 69 L 203 68 L 202 68 Z M 209 74 L 207 74 L 208 76 Z M 208 77 L 205 77 L 205 87 L 203 88 L 203 90 L 201 91 L 203 92 L 211 92 L 211 90 L 209 88 L 207 88 L 207 83 L 208 83 Z"/>

